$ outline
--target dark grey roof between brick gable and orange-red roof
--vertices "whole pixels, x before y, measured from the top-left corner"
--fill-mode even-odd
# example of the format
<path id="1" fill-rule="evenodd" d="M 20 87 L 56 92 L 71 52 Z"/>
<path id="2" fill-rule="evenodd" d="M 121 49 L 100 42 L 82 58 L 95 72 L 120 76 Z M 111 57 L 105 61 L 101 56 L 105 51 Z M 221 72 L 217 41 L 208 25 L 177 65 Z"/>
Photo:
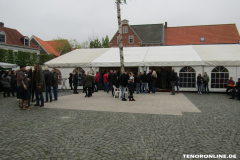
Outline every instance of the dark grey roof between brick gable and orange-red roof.
<path id="1" fill-rule="evenodd" d="M 130 25 L 142 44 L 162 44 L 163 24 Z"/>

